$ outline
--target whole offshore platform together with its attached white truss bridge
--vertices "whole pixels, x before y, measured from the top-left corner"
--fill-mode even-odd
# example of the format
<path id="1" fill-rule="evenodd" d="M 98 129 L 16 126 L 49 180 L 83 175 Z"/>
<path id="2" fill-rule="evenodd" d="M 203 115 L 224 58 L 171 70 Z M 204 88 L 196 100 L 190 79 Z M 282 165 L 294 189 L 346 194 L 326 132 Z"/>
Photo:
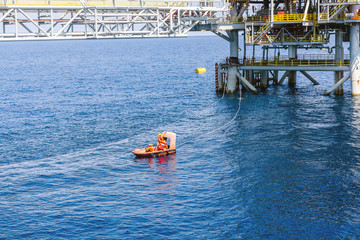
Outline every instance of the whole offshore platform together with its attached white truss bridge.
<path id="1" fill-rule="evenodd" d="M 352 95 L 360 95 L 359 9 L 355 0 L 1 0 L 0 41 L 185 37 L 189 31 L 212 31 L 230 45 L 229 57 L 215 65 L 218 91 L 233 93 L 242 86 L 257 93 L 285 79 L 291 86 L 298 72 L 319 84 L 309 72 L 333 71 L 334 86 L 325 95 L 343 94 L 348 79 Z M 331 35 L 333 47 L 328 46 Z M 350 56 L 344 55 L 343 42 L 350 42 Z M 259 48 L 261 58 L 255 55 Z M 329 54 L 298 54 L 298 49 L 316 48 Z M 284 49 L 288 55 L 280 56 Z"/>

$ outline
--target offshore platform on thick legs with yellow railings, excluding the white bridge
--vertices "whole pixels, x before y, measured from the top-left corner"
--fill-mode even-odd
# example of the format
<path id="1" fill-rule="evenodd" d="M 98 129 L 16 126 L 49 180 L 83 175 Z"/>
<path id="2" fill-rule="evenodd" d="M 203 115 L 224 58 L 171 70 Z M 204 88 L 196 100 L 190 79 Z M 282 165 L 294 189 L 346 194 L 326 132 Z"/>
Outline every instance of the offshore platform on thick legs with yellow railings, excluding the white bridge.
<path id="1" fill-rule="evenodd" d="M 282 84 L 286 78 L 293 86 L 297 72 L 319 84 L 310 71 L 333 71 L 334 85 L 325 95 L 342 95 L 348 79 L 352 95 L 360 95 L 359 4 L 354 0 L 230 0 L 225 18 L 197 26 L 230 43 L 229 58 L 215 66 L 216 89 L 233 93 L 242 85 L 257 93 L 256 86 L 266 89 L 269 82 Z M 244 37 L 243 56 L 238 51 L 239 32 Z M 333 47 L 327 46 L 331 35 L 335 36 Z M 350 42 L 350 56 L 344 55 L 343 42 Z M 246 52 L 246 46 L 252 46 L 252 53 Z M 262 48 L 261 58 L 255 57 L 255 46 Z M 327 48 L 329 54 L 299 55 L 300 48 Z M 280 56 L 280 49 L 288 55 Z"/>

